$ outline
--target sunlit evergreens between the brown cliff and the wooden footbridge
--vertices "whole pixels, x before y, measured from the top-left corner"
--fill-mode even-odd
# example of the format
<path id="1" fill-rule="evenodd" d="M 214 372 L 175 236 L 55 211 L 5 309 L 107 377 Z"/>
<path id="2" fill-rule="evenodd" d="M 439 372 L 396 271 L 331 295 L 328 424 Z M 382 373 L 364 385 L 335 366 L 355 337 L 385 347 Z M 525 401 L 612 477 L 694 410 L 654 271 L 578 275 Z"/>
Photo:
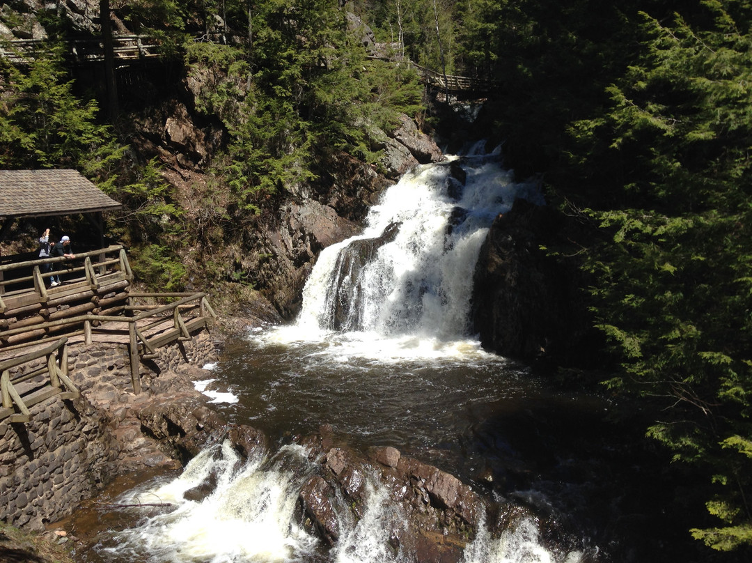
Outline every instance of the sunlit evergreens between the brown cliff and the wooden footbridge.
<path id="1" fill-rule="evenodd" d="M 252 15 L 252 44 L 187 44 L 186 62 L 204 85 L 197 108 L 229 133 L 217 176 L 239 210 L 259 212 L 331 151 L 374 162 L 371 128 L 420 111 L 422 89 L 414 72 L 366 59 L 337 2 L 271 0 Z"/>

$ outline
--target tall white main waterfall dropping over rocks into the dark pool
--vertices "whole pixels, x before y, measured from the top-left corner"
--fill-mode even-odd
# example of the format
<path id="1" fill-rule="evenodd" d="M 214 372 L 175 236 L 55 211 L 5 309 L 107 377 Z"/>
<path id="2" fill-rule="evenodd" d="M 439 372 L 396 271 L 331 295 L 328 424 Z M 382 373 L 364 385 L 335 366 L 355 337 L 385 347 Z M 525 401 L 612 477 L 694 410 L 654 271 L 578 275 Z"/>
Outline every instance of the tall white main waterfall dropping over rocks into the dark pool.
<path id="1" fill-rule="evenodd" d="M 478 253 L 516 197 L 542 203 L 534 183 L 515 183 L 502 169 L 498 149 L 418 166 L 371 208 L 362 234 L 322 251 L 298 326 L 386 338 L 468 336 Z"/>

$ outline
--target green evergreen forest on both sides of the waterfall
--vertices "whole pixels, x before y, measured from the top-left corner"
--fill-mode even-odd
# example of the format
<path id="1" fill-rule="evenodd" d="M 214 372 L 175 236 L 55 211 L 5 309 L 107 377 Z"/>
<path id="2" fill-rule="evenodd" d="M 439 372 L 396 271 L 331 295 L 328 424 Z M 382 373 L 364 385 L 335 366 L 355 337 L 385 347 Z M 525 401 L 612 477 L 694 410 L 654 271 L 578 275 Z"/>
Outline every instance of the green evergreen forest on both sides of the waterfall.
<path id="1" fill-rule="evenodd" d="M 57 41 L 70 24 L 54 4 L 36 14 L 47 55 L 0 67 L 0 166 L 78 169 L 123 202 L 108 233 L 162 289 L 252 286 L 253 272 L 223 249 L 252 238 L 280 193 L 315 183 L 343 155 L 378 168 L 374 131 L 401 113 L 437 130 L 416 72 L 397 61 L 501 81 L 475 134 L 503 142 L 520 178 L 541 175 L 572 227 L 545 250 L 587 280 L 583 303 L 605 336 L 593 351 L 602 384 L 640 398 L 647 439 L 699 483 L 708 512 L 690 533 L 716 550 L 750 549 L 752 3 L 100 5 L 158 38 L 176 75 L 206 84 L 196 111 L 224 141 L 202 163 L 205 189 L 181 205 L 159 160 L 129 147 L 134 108 L 98 103 L 71 81 Z M 390 45 L 390 60 L 368 57 L 347 14 Z"/>

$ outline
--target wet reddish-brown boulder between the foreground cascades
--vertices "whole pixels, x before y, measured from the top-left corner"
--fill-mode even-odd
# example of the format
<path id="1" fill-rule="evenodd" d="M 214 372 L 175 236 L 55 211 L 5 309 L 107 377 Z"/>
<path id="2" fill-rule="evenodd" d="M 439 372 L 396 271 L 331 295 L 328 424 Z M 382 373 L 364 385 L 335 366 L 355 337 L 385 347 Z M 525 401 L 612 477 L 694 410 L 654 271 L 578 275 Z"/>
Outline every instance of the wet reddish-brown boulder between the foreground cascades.
<path id="1" fill-rule="evenodd" d="M 326 428 L 300 443 L 311 452 L 309 458 L 320 460 L 321 471 L 308 479 L 299 500 L 311 521 L 309 528 L 329 545 L 343 534 L 344 522 L 365 517 L 369 482 L 386 491 L 386 499 L 379 502 L 390 507 L 387 512 L 402 515 L 382 524 L 388 528 L 390 546 L 408 561 L 456 563 L 484 521 L 487 501 L 470 486 L 396 448 L 373 448 L 363 455 L 337 443 Z"/>

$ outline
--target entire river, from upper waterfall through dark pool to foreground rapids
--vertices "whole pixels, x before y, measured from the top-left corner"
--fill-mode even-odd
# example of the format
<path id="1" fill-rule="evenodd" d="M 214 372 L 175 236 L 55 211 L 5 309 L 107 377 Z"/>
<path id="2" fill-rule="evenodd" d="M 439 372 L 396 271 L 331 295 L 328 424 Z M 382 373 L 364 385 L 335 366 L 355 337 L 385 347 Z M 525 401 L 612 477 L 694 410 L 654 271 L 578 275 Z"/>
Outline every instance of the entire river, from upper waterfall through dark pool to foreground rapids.
<path id="1" fill-rule="evenodd" d="M 274 455 L 238 468 L 216 446 L 179 475 L 121 479 L 98 501 L 177 509 L 115 515 L 85 504 L 74 516 L 87 537 L 80 560 L 410 561 L 385 549 L 385 522 L 400 516 L 376 485 L 362 519 L 343 516 L 335 548 L 296 521 L 313 469 L 294 437 L 331 425 L 352 446 L 396 447 L 524 509 L 502 534 L 481 529 L 465 563 L 660 561 L 656 546 L 681 531 L 658 508 L 669 493 L 630 449 L 639 432 L 619 423 L 609 400 L 488 354 L 470 332 L 479 248 L 517 196 L 543 203 L 535 184 L 511 180 L 498 150 L 405 175 L 361 235 L 322 252 L 296 322 L 238 335 L 211 366 L 213 381 L 199 384 L 226 418 L 264 431 Z M 186 501 L 209 473 L 216 491 Z"/>

